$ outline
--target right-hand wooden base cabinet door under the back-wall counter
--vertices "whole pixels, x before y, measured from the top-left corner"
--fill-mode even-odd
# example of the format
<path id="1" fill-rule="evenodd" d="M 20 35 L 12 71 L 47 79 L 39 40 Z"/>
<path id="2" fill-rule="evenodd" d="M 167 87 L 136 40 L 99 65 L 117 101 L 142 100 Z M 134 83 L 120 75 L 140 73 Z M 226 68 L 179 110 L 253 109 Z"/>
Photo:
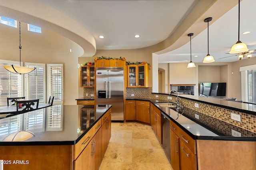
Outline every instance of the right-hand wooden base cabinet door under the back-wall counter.
<path id="1" fill-rule="evenodd" d="M 145 123 L 150 123 L 150 102 L 148 101 L 136 101 L 136 120 Z"/>

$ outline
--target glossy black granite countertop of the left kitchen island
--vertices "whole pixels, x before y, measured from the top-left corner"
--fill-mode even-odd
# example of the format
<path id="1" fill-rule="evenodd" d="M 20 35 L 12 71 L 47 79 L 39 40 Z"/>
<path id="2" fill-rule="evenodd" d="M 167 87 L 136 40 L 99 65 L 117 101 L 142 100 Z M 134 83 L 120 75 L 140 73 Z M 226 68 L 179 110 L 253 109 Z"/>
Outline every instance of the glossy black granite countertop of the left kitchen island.
<path id="1" fill-rule="evenodd" d="M 111 106 L 54 105 L 0 119 L 0 146 L 74 145 Z M 11 133 L 20 130 L 30 131 L 34 137 L 26 141 L 3 141 Z"/>

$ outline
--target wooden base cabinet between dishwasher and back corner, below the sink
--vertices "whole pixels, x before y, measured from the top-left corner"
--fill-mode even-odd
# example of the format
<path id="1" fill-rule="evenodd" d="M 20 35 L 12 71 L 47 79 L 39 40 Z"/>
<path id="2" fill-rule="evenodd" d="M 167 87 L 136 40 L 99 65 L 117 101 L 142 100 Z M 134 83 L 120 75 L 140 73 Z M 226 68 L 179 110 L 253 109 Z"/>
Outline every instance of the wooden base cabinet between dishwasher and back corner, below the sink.
<path id="1" fill-rule="evenodd" d="M 162 143 L 161 111 L 150 103 L 150 124 L 160 143 Z"/>

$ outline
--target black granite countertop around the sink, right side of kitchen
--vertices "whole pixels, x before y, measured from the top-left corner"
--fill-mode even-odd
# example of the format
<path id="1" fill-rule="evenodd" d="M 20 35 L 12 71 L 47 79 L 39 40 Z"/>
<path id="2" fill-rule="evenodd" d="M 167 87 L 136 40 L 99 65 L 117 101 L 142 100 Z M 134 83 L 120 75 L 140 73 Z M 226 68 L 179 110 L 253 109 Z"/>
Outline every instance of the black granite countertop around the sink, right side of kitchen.
<path id="1" fill-rule="evenodd" d="M 179 96 L 180 97 L 180 96 Z M 183 129 L 190 137 L 198 140 L 224 140 L 224 141 L 256 141 L 256 133 L 242 129 L 230 123 L 198 113 L 184 107 L 184 113 L 177 119 L 175 108 L 161 107 L 157 103 L 170 103 L 166 100 L 153 100 L 150 98 L 128 98 L 126 100 L 145 100 L 152 102 L 161 112 Z M 181 112 L 179 112 L 181 113 Z M 199 114 L 200 119 L 194 115 Z M 176 120 L 175 120 L 176 119 Z M 234 136 L 236 135 L 236 136 Z M 240 135 L 240 136 L 239 136 Z"/>

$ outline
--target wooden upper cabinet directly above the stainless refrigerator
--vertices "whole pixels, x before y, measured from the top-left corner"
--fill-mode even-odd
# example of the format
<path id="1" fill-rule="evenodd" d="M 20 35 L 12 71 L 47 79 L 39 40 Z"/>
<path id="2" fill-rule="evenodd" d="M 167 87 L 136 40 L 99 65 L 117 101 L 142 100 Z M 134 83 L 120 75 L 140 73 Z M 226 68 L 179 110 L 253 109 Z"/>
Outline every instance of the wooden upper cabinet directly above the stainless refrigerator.
<path id="1" fill-rule="evenodd" d="M 96 67 L 125 67 L 126 61 L 119 59 L 98 59 L 95 61 Z"/>

